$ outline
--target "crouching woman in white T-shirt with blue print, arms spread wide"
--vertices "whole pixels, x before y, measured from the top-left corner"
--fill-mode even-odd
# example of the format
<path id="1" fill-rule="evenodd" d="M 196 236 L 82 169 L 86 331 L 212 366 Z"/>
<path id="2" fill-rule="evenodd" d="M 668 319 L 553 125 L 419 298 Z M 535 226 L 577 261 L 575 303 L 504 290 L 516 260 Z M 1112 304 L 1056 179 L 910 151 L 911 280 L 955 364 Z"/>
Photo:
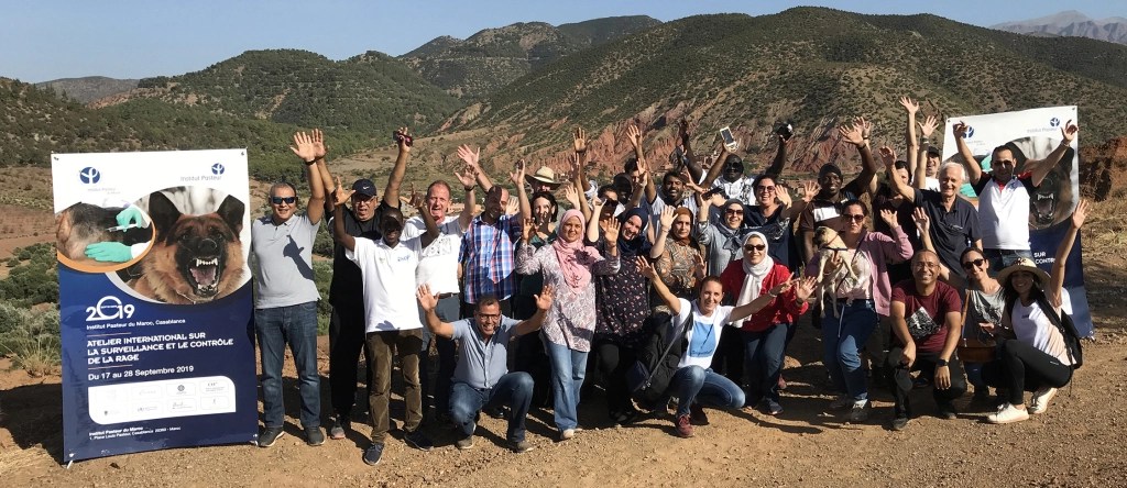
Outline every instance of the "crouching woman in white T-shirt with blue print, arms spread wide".
<path id="1" fill-rule="evenodd" d="M 678 342 L 684 351 L 677 363 L 677 371 L 669 381 L 666 395 L 677 397 L 677 412 L 674 416 L 677 436 L 692 437 L 693 424 L 708 424 L 708 417 L 704 415 L 701 404 L 729 409 L 744 406 L 744 391 L 731 380 L 708 369 L 712 362 L 712 354 L 716 353 L 717 344 L 720 343 L 724 325 L 737 324 L 796 284 L 797 291 L 791 296 L 795 300 L 806 301 L 814 290 L 815 282 L 813 278 L 786 281 L 749 302 L 729 307 L 720 305 L 720 300 L 724 298 L 724 287 L 717 277 L 701 280 L 700 293 L 695 300 L 689 301 L 673 295 L 660 275 L 645 260 L 639 260 L 638 265 L 642 268 L 642 274 L 654 282 L 654 289 L 658 297 L 673 314 L 673 320 L 668 325 L 674 327 L 673 336 L 684 334 L 686 338 Z M 692 316 L 691 320 L 690 316 Z M 686 324 L 687 329 L 681 329 L 681 324 Z"/>

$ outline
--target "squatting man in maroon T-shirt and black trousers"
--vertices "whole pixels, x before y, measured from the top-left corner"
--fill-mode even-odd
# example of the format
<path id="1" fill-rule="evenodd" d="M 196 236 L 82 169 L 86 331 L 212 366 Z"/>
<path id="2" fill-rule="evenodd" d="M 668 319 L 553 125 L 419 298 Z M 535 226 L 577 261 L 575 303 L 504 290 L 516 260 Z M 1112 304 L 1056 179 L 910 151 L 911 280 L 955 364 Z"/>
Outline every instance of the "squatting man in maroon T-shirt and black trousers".
<path id="1" fill-rule="evenodd" d="M 932 397 L 939 416 L 956 417 L 952 400 L 967 391 L 962 367 L 955 356 L 962 327 L 962 301 L 950 284 L 939 281 L 939 255 L 920 251 L 912 259 L 912 280 L 893 286 L 889 317 L 898 344 L 888 351 L 888 365 L 895 369 L 895 418 L 893 430 L 902 431 L 912 417 L 908 392 L 912 371 L 933 378 Z"/>

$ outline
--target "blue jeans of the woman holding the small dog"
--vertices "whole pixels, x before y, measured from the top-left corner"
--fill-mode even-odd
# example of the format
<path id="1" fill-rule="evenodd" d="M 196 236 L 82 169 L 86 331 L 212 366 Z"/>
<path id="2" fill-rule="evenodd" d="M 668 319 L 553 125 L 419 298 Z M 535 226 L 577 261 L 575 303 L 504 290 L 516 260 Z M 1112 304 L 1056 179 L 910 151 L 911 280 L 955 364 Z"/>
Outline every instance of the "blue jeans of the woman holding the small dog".
<path id="1" fill-rule="evenodd" d="M 834 317 L 834 308 L 840 317 Z M 822 344 L 825 354 L 822 360 L 829 370 L 834 389 L 853 398 L 853 401 L 869 399 L 869 385 L 861 369 L 861 346 L 869 341 L 877 327 L 877 310 L 872 300 L 837 300 L 837 306 L 823 304 Z"/>

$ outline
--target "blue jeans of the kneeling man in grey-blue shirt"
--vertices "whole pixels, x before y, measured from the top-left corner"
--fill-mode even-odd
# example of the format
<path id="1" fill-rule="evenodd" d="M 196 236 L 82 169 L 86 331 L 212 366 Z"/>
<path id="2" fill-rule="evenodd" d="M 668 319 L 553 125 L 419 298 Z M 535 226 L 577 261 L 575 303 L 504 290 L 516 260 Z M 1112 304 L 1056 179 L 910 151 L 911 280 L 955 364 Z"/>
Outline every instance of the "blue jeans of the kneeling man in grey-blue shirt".
<path id="1" fill-rule="evenodd" d="M 450 418 L 462 430 L 462 435 L 473 435 L 477 428 L 478 413 L 482 408 L 496 408 L 508 405 L 513 410 L 508 417 L 506 439 L 513 442 L 524 441 L 524 418 L 532 405 L 532 376 L 523 372 L 512 372 L 500 377 L 492 388 L 473 388 L 461 381 L 450 388 Z"/>

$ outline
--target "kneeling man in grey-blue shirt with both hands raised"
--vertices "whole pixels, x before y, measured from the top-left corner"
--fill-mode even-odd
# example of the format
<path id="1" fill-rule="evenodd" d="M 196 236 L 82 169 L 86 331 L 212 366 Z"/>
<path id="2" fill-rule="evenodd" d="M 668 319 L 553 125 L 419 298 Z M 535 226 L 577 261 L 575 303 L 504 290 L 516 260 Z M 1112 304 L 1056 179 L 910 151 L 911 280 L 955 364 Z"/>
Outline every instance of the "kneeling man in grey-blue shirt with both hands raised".
<path id="1" fill-rule="evenodd" d="M 552 306 L 552 287 L 535 297 L 536 313 L 517 322 L 504 316 L 495 297 L 481 297 L 473 317 L 454 323 L 438 318 L 435 307 L 437 296 L 429 287 L 420 286 L 416 293 L 426 313 L 427 328 L 447 340 L 458 341 L 458 368 L 450 394 L 450 416 L 459 426 L 462 437 L 458 449 L 473 448 L 473 431 L 482 408 L 509 407 L 507 440 L 516 453 L 531 451 L 525 437 L 524 421 L 532 405 L 532 377 L 523 371 L 508 372 L 509 340 L 540 329 L 544 313 Z"/>

